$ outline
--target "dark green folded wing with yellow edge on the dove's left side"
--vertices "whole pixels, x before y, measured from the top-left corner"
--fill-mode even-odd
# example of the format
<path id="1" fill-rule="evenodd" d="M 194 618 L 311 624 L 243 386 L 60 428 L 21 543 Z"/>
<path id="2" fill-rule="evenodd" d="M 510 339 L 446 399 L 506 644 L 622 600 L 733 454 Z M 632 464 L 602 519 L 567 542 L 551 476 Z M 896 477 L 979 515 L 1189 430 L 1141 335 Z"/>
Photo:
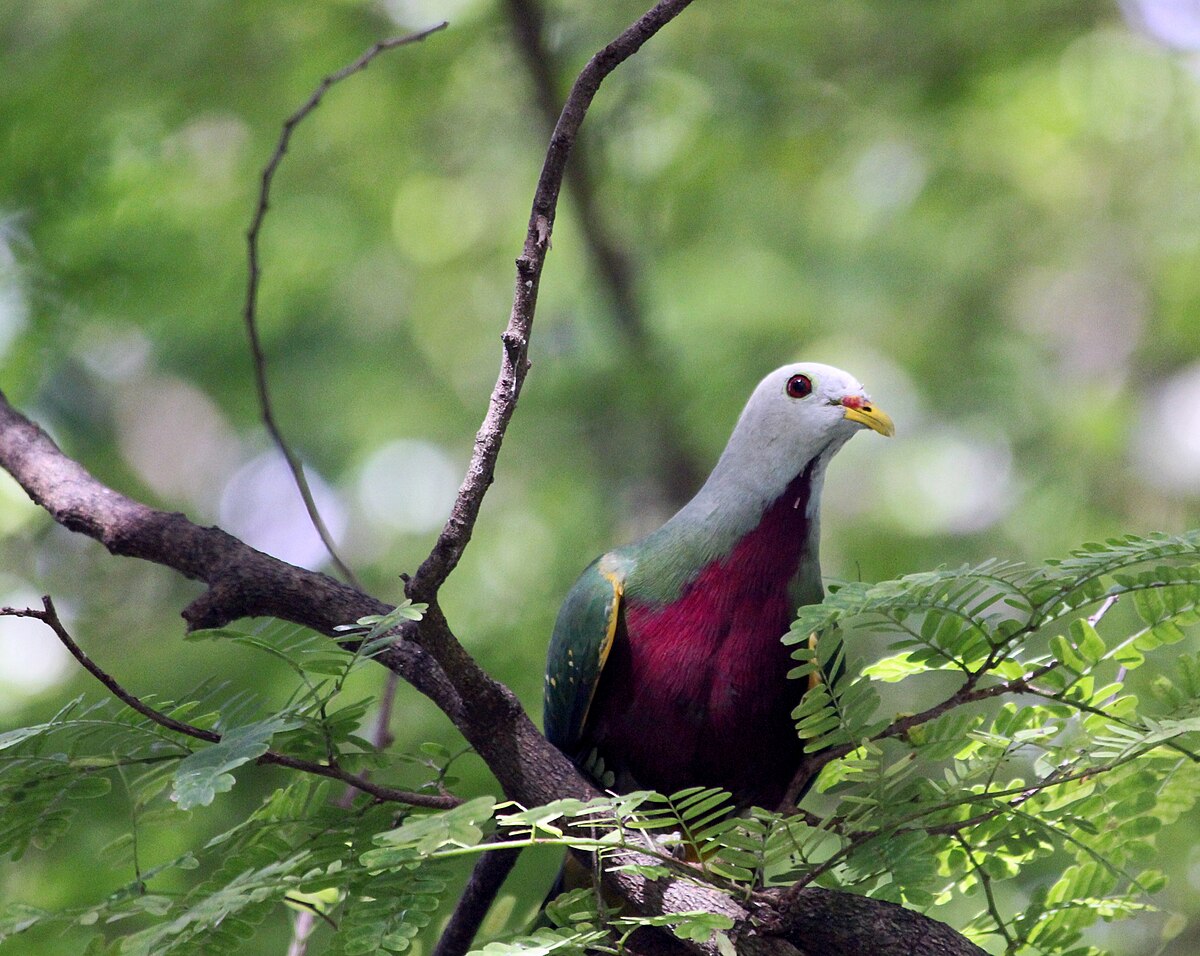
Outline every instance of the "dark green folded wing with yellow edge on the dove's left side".
<path id="1" fill-rule="evenodd" d="M 580 575 L 554 623 L 542 723 L 550 742 L 569 757 L 581 756 L 588 709 L 617 636 L 624 587 L 617 557 L 598 558 Z"/>

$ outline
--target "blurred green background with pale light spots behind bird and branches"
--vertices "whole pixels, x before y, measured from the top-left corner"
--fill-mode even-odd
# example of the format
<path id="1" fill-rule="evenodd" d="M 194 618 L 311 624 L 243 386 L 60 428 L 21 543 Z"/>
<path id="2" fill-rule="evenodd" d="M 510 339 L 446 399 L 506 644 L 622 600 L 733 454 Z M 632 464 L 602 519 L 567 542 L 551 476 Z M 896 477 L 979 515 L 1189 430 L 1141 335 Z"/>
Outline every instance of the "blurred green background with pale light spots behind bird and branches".
<path id="1" fill-rule="evenodd" d="M 547 2 L 538 50 L 515 29 L 536 8 L 505 0 L 0 5 L 0 386 L 102 481 L 325 567 L 259 417 L 245 232 L 319 79 L 449 19 L 299 128 L 262 240 L 280 425 L 346 560 L 398 600 L 494 381 L 545 103 L 642 8 Z M 469 650 L 536 715 L 576 573 L 670 515 L 758 378 L 797 359 L 851 371 L 899 429 L 830 470 L 829 577 L 1200 523 L 1198 52 L 1196 0 L 688 10 L 588 116 L 521 408 L 443 593 Z M 182 643 L 196 585 L 61 530 L 5 475 L 0 535 L 0 605 L 53 594 L 134 692 L 217 678 L 286 699 L 277 663 Z M 98 696 L 48 631 L 0 621 L 0 730 L 82 692 Z M 455 745 L 403 690 L 391 729 L 397 748 Z M 474 758 L 458 769 L 461 792 L 490 786 Z M 144 835 L 149 861 L 282 780 L 242 772 Z M 119 793 L 95 801 L 70 841 L 0 866 L 0 897 L 95 900 L 131 878 L 97 858 L 127 828 Z M 1154 902 L 1188 928 L 1163 949 L 1166 916 L 1147 913 L 1097 944 L 1200 951 L 1200 820 L 1162 842 L 1172 882 Z M 554 865 L 522 864 L 493 932 Z M 282 952 L 288 933 L 281 913 L 246 951 Z"/>

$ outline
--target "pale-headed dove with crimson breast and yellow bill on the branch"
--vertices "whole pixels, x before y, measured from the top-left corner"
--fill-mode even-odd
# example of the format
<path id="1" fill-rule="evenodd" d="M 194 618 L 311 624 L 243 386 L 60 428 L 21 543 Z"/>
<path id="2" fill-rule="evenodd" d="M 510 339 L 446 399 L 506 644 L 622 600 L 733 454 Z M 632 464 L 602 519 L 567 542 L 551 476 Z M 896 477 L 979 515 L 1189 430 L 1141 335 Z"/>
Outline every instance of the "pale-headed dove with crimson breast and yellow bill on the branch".
<path id="1" fill-rule="evenodd" d="M 551 744 L 617 792 L 714 787 L 778 808 L 805 690 L 781 638 L 824 596 L 821 491 L 862 429 L 895 434 L 847 372 L 800 362 L 758 383 L 695 497 L 568 593 L 546 661 Z"/>

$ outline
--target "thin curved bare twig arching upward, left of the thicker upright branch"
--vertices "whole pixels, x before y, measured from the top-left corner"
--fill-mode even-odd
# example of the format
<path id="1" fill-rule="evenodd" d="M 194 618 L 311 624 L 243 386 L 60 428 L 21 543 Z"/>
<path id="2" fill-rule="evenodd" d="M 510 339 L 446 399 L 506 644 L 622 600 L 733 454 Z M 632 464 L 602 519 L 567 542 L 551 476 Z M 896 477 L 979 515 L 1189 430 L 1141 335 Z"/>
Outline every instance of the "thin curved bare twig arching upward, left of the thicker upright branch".
<path id="1" fill-rule="evenodd" d="M 444 30 L 445 26 L 446 23 L 443 20 L 436 26 L 420 30 L 415 34 L 380 40 L 378 43 L 372 44 L 354 62 L 343 66 L 336 73 L 330 73 L 320 80 L 317 89 L 313 90 L 312 95 L 304 102 L 304 104 L 283 121 L 283 130 L 280 133 L 280 140 L 275 146 L 275 152 L 271 154 L 271 158 L 263 168 L 260 185 L 258 188 L 258 204 L 254 209 L 254 216 L 251 220 L 250 229 L 246 233 L 246 258 L 248 269 L 246 276 L 246 303 L 242 309 L 242 319 L 246 323 L 246 333 L 250 336 L 250 351 L 254 365 L 254 383 L 258 389 L 258 404 L 263 414 L 263 425 L 266 426 L 266 431 L 270 433 L 271 439 L 275 441 L 275 445 L 278 447 L 284 461 L 288 463 L 288 468 L 292 470 L 292 477 L 295 480 L 296 488 L 300 491 L 300 497 L 304 499 L 304 506 L 308 512 L 308 518 L 312 521 L 312 527 L 316 528 L 317 534 L 320 535 L 320 540 L 325 545 L 325 551 L 329 552 L 330 559 L 334 561 L 334 565 L 342 573 L 342 576 L 355 588 L 359 588 L 359 590 L 361 590 L 361 587 L 359 585 L 358 578 L 354 577 L 354 572 L 338 557 L 337 549 L 334 547 L 334 537 L 329 533 L 329 528 L 325 527 L 324 519 L 320 517 L 320 511 L 317 509 L 317 503 L 312 497 L 312 489 L 308 487 L 308 480 L 304 474 L 304 464 L 301 463 L 300 457 L 292 450 L 292 446 L 288 445 L 287 440 L 283 438 L 283 432 L 280 429 L 278 422 L 275 420 L 275 413 L 271 407 L 271 395 L 266 385 L 266 355 L 263 351 L 263 342 L 258 335 L 258 284 L 263 272 L 262 265 L 259 264 L 258 236 L 262 233 L 263 222 L 266 218 L 268 210 L 270 209 L 271 184 L 275 181 L 275 173 L 278 170 L 280 163 L 283 162 L 283 156 L 288 151 L 288 145 L 292 142 L 292 134 L 295 132 L 296 126 L 299 126 L 310 113 L 320 106 L 320 101 L 324 98 L 325 94 L 329 92 L 330 86 L 341 83 L 347 77 L 352 77 L 355 73 L 366 70 L 371 65 L 371 61 L 379 54 L 396 49 L 397 47 L 406 47 L 410 43 L 416 43 L 425 40 L 425 37 L 431 34 L 436 34 L 438 30 Z"/>

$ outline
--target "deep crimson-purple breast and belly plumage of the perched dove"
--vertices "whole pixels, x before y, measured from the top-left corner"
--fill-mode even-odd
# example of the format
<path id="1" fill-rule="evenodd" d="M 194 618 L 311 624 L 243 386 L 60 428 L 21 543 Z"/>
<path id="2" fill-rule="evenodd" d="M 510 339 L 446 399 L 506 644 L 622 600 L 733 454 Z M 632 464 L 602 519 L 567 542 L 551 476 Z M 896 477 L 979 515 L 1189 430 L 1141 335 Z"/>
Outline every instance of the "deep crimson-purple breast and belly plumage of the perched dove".
<path id="1" fill-rule="evenodd" d="M 665 605 L 626 593 L 592 739 L 619 786 L 724 786 L 778 802 L 800 756 L 780 638 L 800 602 L 806 488 L 788 488 L 730 553 Z M 811 599 L 809 599 L 811 600 Z"/>

